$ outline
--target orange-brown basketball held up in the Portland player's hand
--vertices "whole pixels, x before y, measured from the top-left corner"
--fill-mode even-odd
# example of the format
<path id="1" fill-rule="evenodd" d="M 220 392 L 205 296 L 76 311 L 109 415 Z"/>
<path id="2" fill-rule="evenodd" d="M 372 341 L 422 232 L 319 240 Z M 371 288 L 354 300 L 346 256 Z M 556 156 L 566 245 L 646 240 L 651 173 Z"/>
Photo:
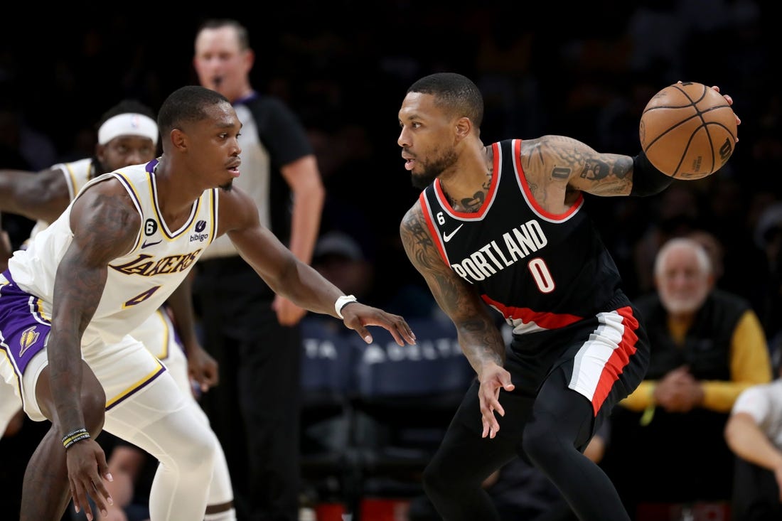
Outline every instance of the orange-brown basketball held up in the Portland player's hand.
<path id="1" fill-rule="evenodd" d="M 723 95 L 701 83 L 658 92 L 640 117 L 640 144 L 659 171 L 677 179 L 713 174 L 734 152 L 737 124 Z"/>

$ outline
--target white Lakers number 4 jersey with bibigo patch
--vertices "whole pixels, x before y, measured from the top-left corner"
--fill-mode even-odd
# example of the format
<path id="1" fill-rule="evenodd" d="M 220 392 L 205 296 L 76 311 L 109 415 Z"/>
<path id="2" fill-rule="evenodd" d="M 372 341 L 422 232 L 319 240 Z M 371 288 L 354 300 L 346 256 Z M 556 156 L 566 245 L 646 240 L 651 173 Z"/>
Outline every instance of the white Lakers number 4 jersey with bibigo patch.
<path id="1" fill-rule="evenodd" d="M 92 185 L 117 178 L 141 216 L 135 245 L 109 263 L 106 287 L 82 344 L 94 340 L 118 342 L 155 312 L 179 286 L 195 260 L 217 232 L 217 189 L 196 199 L 190 216 L 171 230 L 160 211 L 156 194 L 157 160 L 121 168 L 88 181 L 76 196 Z M 52 313 L 54 281 L 60 260 L 73 240 L 71 202 L 59 218 L 32 239 L 27 250 L 14 253 L 9 270 L 21 289 L 41 299 L 45 316 Z"/>

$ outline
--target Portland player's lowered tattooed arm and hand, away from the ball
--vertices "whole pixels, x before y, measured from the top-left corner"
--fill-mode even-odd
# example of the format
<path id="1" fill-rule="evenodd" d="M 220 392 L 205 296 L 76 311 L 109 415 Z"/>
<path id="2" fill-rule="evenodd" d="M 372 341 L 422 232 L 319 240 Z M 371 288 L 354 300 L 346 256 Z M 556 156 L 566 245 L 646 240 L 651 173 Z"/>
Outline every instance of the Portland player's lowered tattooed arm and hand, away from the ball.
<path id="1" fill-rule="evenodd" d="M 482 436 L 493 438 L 500 429 L 494 412 L 505 414 L 499 402 L 500 389 L 513 390 L 511 374 L 502 367 L 505 360 L 502 334 L 475 290 L 439 256 L 426 227 L 420 202 L 416 202 L 405 214 L 400 235 L 407 258 L 423 275 L 437 304 L 456 326 L 461 350 L 475 369 L 480 383 Z"/>

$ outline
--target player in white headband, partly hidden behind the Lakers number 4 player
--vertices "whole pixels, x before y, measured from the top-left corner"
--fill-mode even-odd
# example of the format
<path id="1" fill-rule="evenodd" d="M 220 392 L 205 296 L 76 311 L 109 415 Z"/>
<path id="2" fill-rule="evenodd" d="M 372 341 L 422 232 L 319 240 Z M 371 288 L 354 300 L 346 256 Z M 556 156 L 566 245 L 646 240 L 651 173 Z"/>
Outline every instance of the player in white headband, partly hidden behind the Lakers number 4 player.
<path id="1" fill-rule="evenodd" d="M 0 209 L 11 210 L 37 221 L 29 242 L 48 227 L 49 221 L 65 210 L 77 192 L 92 178 L 104 172 L 155 159 L 159 133 L 153 117 L 152 110 L 142 103 L 132 99 L 123 100 L 103 113 L 99 122 L 95 156 L 57 163 L 37 173 L 0 170 Z M 4 270 L 9 255 L 0 257 Z M 189 405 L 195 408 L 199 418 L 208 424 L 209 419 L 192 395 L 188 365 L 200 389 L 208 390 L 217 383 L 217 363 L 203 350 L 195 336 L 190 298 L 189 286 L 182 284 L 168 301 L 174 320 L 180 326 L 178 331 L 174 330 L 167 311 L 160 309 L 135 329 L 132 336 L 163 361 L 185 396 L 191 399 Z M 183 349 L 187 351 L 186 357 Z M 14 387 L 0 385 L 0 436 L 21 408 L 22 402 L 16 397 Z M 123 454 L 133 453 L 125 451 Z M 136 456 L 142 460 L 145 458 L 143 453 Z M 110 467 L 118 465 L 123 465 L 123 462 L 109 459 Z M 219 446 L 205 519 L 236 519 L 228 465 Z"/>

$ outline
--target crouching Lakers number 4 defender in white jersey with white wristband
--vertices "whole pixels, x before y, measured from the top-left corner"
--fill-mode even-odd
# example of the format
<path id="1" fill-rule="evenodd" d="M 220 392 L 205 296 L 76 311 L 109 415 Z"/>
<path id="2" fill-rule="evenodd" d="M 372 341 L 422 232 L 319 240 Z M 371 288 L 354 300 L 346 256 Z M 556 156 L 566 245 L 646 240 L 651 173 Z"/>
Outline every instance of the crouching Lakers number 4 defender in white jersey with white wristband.
<path id="1" fill-rule="evenodd" d="M 59 519 L 66 475 L 88 519 L 88 495 L 106 510 L 112 499 L 103 480 L 111 476 L 94 440 L 102 428 L 160 461 L 152 521 L 203 517 L 217 440 L 160 361 L 128 333 L 219 235 L 227 233 L 264 282 L 294 304 L 343 318 L 367 342 L 369 325 L 388 329 L 400 346 L 415 342 L 404 318 L 357 303 L 297 260 L 260 225 L 246 194 L 231 190 L 242 124 L 228 99 L 179 88 L 163 102 L 158 125 L 160 160 L 90 181 L 27 250 L 14 253 L 0 278 L 0 375 L 19 386 L 31 419 L 52 422 L 27 465 L 20 519 Z"/>

